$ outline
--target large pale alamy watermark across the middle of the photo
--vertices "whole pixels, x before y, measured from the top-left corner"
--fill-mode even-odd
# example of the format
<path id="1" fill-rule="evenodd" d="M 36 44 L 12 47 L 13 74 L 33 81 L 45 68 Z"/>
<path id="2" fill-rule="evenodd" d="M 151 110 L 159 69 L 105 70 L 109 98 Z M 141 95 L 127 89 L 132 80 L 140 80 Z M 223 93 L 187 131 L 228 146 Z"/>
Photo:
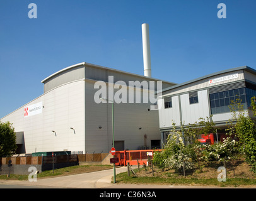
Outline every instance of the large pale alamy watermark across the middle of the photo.
<path id="1" fill-rule="evenodd" d="M 139 82 L 136 80 L 129 81 L 127 85 L 126 82 L 121 80 L 114 83 L 113 76 L 108 76 L 108 84 L 103 81 L 97 81 L 95 82 L 94 89 L 99 89 L 94 95 L 96 103 L 151 103 L 151 110 L 161 108 L 161 103 L 156 108 L 157 97 L 155 94 L 155 92 L 158 92 L 158 95 L 161 95 L 161 81 L 143 80 Z"/>

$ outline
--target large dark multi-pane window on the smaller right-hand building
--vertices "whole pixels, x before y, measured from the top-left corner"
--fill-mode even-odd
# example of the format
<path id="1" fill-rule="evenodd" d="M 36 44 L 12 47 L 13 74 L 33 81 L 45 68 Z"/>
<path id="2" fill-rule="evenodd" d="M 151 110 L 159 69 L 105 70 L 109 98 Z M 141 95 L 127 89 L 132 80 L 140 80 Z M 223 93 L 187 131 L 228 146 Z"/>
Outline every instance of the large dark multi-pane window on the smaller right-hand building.
<path id="1" fill-rule="evenodd" d="M 235 102 L 237 99 L 240 99 L 244 109 L 247 109 L 248 90 L 250 89 L 240 88 L 209 94 L 211 114 L 230 112 L 230 104 Z"/>

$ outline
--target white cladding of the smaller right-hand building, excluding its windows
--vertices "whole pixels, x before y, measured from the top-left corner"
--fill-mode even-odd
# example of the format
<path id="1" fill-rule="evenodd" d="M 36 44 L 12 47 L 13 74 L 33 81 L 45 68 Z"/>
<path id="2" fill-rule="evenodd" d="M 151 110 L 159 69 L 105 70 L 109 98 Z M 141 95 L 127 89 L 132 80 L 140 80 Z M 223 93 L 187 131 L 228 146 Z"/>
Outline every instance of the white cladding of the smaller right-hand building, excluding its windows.
<path id="1" fill-rule="evenodd" d="M 248 67 L 238 67 L 234 68 L 234 70 L 227 70 L 219 74 L 214 73 L 202 77 L 202 79 L 185 82 L 184 84 L 164 90 L 162 95 L 158 95 L 158 104 L 163 104 L 163 107 L 159 110 L 160 130 L 170 131 L 173 122 L 175 122 L 177 126 L 180 126 L 180 122 L 184 125 L 189 125 L 199 122 L 199 118 L 206 119 L 206 117 L 210 117 L 211 106 L 209 101 L 209 90 L 211 87 L 238 83 L 241 80 L 255 82 L 255 73 L 253 73 L 253 69 Z M 197 103 L 190 104 L 190 92 L 197 92 Z M 172 107 L 164 107 L 165 97 L 169 97 L 168 99 L 172 97 Z M 231 112 L 213 114 L 212 121 L 219 124 L 225 124 L 231 117 Z"/>

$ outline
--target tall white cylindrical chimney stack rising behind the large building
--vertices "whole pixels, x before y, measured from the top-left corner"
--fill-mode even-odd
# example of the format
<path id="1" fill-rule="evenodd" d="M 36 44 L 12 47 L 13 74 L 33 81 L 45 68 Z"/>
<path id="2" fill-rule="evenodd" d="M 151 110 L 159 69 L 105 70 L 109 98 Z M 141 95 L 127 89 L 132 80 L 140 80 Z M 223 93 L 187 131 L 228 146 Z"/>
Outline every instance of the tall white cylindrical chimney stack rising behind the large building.
<path id="1" fill-rule="evenodd" d="M 143 62 L 144 62 L 144 76 L 151 77 L 151 58 L 150 58 L 150 44 L 149 44 L 149 28 L 148 24 L 141 25 L 143 30 Z"/>

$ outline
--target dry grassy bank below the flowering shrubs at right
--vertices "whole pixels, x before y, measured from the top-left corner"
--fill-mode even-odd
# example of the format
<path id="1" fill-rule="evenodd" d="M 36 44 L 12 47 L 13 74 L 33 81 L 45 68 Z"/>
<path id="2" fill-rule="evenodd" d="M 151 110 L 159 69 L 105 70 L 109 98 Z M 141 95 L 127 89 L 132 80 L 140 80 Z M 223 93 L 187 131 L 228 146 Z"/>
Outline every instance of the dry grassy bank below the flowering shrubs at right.
<path id="1" fill-rule="evenodd" d="M 243 160 L 234 161 L 226 164 L 227 178 L 226 182 L 218 181 L 218 167 L 223 166 L 219 161 L 211 161 L 200 163 L 194 171 L 177 173 L 175 170 L 160 170 L 154 168 L 154 175 L 151 168 L 145 171 L 145 168 L 140 168 L 136 171 L 136 176 L 128 177 L 127 173 L 117 175 L 117 181 L 120 183 L 154 183 L 159 185 L 211 185 L 219 187 L 256 187 L 256 175 L 250 171 L 250 166 Z M 235 167 L 235 168 L 233 168 Z M 135 168 L 134 168 L 135 169 Z M 235 172 L 235 174 L 234 174 Z"/>

